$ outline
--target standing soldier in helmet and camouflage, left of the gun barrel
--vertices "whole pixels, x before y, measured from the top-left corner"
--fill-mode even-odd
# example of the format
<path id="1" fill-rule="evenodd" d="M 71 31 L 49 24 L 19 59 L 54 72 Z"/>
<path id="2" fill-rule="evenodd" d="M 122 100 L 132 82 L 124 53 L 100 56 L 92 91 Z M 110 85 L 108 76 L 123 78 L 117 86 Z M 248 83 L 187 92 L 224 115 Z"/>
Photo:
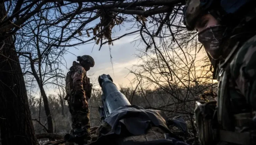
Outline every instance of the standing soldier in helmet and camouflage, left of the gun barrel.
<path id="1" fill-rule="evenodd" d="M 84 141 L 91 139 L 90 134 L 90 109 L 88 99 L 91 97 L 92 84 L 86 76 L 90 67 L 94 66 L 94 60 L 89 55 L 78 56 L 73 61 L 72 67 L 66 76 L 66 100 L 72 116 L 72 134 L 84 136 Z"/>

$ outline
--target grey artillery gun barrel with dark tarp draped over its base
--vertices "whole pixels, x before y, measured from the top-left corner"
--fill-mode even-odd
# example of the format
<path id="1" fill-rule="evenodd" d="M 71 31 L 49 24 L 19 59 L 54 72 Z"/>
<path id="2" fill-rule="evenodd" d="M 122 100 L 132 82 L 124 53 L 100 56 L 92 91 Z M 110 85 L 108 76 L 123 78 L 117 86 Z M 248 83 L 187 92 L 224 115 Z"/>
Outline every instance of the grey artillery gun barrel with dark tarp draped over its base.
<path id="1" fill-rule="evenodd" d="M 131 105 L 109 75 L 99 76 L 98 81 L 102 89 L 102 106 L 99 106 L 99 112 L 103 125 L 98 130 L 99 138 L 91 142 L 91 145 L 187 145 L 177 142 L 179 139 L 182 141 L 182 138 L 175 139 L 168 128 L 169 125 L 174 125 L 187 131 L 184 129 L 186 123 L 183 119 L 179 118 L 168 124 L 168 117 L 164 112 Z"/>

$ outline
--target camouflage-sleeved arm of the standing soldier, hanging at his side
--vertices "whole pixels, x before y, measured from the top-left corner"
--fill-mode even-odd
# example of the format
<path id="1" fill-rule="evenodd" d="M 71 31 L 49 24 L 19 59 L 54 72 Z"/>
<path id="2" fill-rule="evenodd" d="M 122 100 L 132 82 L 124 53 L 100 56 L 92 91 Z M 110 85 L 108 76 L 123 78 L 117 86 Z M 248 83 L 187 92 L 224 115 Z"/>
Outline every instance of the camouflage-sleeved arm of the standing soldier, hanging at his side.
<path id="1" fill-rule="evenodd" d="M 81 97 L 81 99 L 85 98 L 85 91 L 83 89 L 83 77 L 85 76 L 85 73 L 86 72 L 82 66 L 76 66 L 74 68 L 73 88 L 76 96 Z"/>

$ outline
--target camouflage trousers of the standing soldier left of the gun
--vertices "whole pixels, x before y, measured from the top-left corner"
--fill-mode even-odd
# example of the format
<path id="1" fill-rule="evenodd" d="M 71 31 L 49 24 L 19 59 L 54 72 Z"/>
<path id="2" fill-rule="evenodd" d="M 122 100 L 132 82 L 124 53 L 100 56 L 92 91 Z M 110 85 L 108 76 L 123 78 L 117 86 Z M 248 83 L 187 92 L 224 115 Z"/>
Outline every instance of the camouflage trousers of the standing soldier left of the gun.
<path id="1" fill-rule="evenodd" d="M 90 109 L 84 109 L 82 106 L 74 106 L 70 103 L 68 103 L 68 108 L 71 114 L 73 133 L 75 133 L 76 129 L 82 128 L 87 134 L 86 139 L 90 140 Z"/>

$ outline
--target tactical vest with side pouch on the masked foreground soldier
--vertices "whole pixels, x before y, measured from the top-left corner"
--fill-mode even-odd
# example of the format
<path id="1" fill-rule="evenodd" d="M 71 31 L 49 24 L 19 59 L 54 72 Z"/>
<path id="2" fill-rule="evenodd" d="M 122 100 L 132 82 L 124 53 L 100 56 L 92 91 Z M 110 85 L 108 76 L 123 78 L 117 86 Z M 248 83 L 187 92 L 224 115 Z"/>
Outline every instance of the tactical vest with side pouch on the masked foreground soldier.
<path id="1" fill-rule="evenodd" d="M 253 145 L 256 144 L 256 129 L 252 107 L 236 88 L 231 76 L 231 62 L 244 42 L 256 35 L 256 9 L 249 12 L 232 30 L 231 37 L 223 42 L 222 50 L 231 48 L 225 61 L 217 68 L 218 98 L 216 102 L 201 104 L 195 108 L 195 122 L 202 145 Z M 214 110 L 211 106 L 217 106 Z"/>

